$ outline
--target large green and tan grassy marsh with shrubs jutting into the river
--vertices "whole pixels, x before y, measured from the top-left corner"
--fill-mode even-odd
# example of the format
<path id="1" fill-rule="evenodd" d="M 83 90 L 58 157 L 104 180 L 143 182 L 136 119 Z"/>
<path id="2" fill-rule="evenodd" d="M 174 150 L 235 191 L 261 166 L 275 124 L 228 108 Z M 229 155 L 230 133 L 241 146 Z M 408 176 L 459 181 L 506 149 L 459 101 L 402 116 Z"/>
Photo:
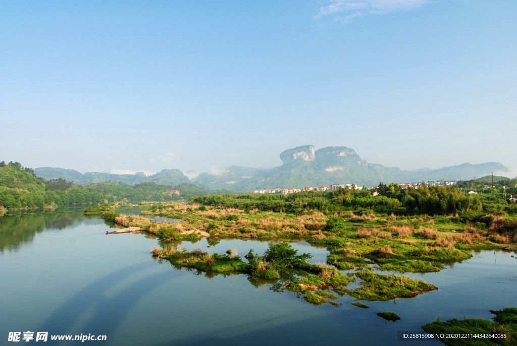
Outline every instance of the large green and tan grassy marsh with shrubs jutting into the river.
<path id="1" fill-rule="evenodd" d="M 287 267 L 302 274 L 280 280 L 282 289 L 316 305 L 337 304 L 335 294 L 355 297 L 359 304 L 412 298 L 438 288 L 404 273 L 439 272 L 472 257 L 472 251 L 517 250 L 514 205 L 488 203 L 450 187 L 403 191 L 396 184 L 380 184 L 379 191 L 383 195 L 354 189 L 323 194 L 210 195 L 188 202 L 149 204 L 142 216 L 118 215 L 110 204 L 86 208 L 85 213 L 101 215 L 119 227 L 140 227 L 160 239 L 163 248 L 153 250 L 155 257 L 205 272 L 247 273 L 278 280 L 279 270 L 285 266 L 267 253 L 250 251 L 246 263 L 231 252 L 209 255 L 201 249 L 177 250 L 171 244 L 181 240 L 195 243 L 207 237 L 209 244 L 217 244 L 221 238 L 269 240 L 267 251 L 287 247 L 286 240 L 293 239 L 326 247 L 326 264 L 299 259 Z M 150 216 L 181 222 L 157 222 L 147 219 Z M 296 255 L 289 253 L 286 259 Z M 357 288 L 347 289 L 349 282 L 356 282 Z"/>

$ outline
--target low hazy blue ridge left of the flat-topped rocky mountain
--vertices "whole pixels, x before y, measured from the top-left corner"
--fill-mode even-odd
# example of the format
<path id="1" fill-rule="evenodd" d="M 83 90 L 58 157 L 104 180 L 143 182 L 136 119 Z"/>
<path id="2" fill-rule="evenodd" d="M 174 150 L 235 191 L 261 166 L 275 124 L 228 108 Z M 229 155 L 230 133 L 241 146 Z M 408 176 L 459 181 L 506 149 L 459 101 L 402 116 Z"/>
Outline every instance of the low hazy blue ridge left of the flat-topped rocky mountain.
<path id="1" fill-rule="evenodd" d="M 81 173 L 76 170 L 68 170 L 64 168 L 40 167 L 34 169 L 37 176 L 45 179 L 64 178 L 75 184 L 85 183 L 102 183 L 102 182 L 122 182 L 128 185 L 140 183 L 156 183 L 159 185 L 179 185 L 182 183 L 190 183 L 180 170 L 162 170 L 153 175 L 146 176 L 143 172 L 135 174 L 112 174 L 99 172 Z"/>

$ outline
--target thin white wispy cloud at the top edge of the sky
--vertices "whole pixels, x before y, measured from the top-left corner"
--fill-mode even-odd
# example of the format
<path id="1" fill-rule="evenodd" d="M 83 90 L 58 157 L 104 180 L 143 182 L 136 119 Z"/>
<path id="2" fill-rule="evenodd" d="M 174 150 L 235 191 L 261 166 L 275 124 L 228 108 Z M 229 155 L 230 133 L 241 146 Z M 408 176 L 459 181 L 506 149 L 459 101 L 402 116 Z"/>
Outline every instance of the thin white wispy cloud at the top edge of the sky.
<path id="1" fill-rule="evenodd" d="M 331 17 L 342 22 L 351 22 L 366 14 L 409 10 L 429 2 L 430 0 L 332 0 L 320 7 L 317 17 Z"/>

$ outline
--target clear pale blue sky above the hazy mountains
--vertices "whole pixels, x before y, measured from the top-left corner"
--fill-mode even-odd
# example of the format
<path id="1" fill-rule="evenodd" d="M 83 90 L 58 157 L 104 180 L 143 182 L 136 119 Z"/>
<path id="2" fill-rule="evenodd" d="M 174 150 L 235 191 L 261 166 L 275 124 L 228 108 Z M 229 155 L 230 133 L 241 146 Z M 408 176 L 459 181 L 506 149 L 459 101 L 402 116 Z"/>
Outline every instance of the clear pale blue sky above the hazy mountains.
<path id="1" fill-rule="evenodd" d="M 147 174 L 346 146 L 517 168 L 517 2 L 0 2 L 0 160 Z M 517 174 L 517 173 L 516 173 Z"/>

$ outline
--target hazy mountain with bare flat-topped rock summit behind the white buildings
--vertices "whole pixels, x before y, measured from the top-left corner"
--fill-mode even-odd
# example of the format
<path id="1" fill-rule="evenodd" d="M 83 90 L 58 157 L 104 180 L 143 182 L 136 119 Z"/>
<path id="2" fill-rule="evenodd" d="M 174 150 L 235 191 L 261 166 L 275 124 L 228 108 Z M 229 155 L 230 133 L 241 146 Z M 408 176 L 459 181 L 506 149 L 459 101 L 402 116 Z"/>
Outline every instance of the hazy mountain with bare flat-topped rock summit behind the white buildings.
<path id="1" fill-rule="evenodd" d="M 374 186 L 379 182 L 388 184 L 439 179 L 459 180 L 496 171 L 508 171 L 508 168 L 498 162 L 463 163 L 436 170 L 406 171 L 369 163 L 361 159 L 354 149 L 345 146 L 315 150 L 313 145 L 303 145 L 282 152 L 280 159 L 283 162 L 282 166 L 269 170 L 229 166 L 216 173 L 201 173 L 192 181 L 210 189 L 251 191 L 279 187 L 329 186 L 339 183 Z"/>

